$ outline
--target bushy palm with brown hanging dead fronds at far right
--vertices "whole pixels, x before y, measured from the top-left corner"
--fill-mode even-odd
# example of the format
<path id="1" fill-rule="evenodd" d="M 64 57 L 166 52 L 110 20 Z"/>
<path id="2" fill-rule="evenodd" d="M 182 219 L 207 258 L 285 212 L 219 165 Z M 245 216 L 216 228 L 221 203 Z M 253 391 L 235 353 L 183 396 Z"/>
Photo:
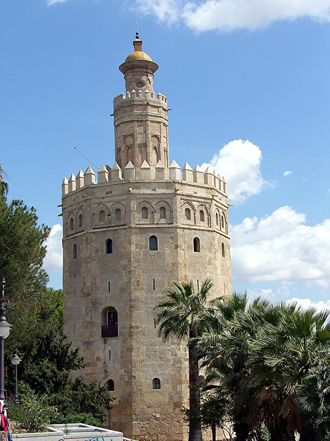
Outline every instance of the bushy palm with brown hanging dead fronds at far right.
<path id="1" fill-rule="evenodd" d="M 296 431 L 306 439 L 297 392 L 311 368 L 330 365 L 329 312 L 302 311 L 295 305 L 278 310 L 278 322 L 265 323 L 250 341 L 251 372 L 243 390 L 254 391 L 250 416 L 264 420 L 272 441 L 294 441 Z"/>

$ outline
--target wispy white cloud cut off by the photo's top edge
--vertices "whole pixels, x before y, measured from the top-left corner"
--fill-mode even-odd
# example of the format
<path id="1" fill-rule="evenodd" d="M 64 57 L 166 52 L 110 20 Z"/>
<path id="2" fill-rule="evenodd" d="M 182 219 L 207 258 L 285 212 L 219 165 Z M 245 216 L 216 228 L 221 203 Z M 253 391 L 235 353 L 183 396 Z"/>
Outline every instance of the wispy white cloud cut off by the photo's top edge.
<path id="1" fill-rule="evenodd" d="M 303 17 L 330 21 L 330 0 L 136 0 L 134 5 L 167 25 L 183 22 L 197 32 L 255 30 Z"/>

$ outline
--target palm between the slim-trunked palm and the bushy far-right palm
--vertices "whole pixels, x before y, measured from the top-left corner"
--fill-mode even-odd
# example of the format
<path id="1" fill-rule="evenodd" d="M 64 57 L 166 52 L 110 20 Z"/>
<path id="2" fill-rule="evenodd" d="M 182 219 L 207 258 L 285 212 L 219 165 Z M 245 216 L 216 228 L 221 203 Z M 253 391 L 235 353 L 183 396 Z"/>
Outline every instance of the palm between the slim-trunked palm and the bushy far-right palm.
<path id="1" fill-rule="evenodd" d="M 239 396 L 241 383 L 249 374 L 247 362 L 250 355 L 248 339 L 255 336 L 267 314 L 269 304 L 257 298 L 248 304 L 246 293 L 215 299 L 217 328 L 198 339 L 197 350 L 206 368 L 207 387 L 216 390 L 221 385 L 231 396 L 228 420 L 233 421 L 236 441 L 254 440 L 256 434 L 249 423 L 250 399 Z M 237 317 L 245 317 L 245 321 Z M 270 319 L 270 318 L 268 318 Z M 214 320 L 213 320 L 214 323 Z"/>

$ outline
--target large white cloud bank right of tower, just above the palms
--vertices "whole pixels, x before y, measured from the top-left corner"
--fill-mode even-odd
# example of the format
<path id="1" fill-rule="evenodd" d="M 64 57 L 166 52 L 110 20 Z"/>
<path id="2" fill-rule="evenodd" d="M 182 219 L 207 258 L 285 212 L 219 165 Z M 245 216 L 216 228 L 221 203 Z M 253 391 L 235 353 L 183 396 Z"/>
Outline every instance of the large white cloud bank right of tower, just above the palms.
<path id="1" fill-rule="evenodd" d="M 305 280 L 330 284 L 330 219 L 309 226 L 306 215 L 283 206 L 271 215 L 245 218 L 231 228 L 232 270 L 237 280 Z"/>

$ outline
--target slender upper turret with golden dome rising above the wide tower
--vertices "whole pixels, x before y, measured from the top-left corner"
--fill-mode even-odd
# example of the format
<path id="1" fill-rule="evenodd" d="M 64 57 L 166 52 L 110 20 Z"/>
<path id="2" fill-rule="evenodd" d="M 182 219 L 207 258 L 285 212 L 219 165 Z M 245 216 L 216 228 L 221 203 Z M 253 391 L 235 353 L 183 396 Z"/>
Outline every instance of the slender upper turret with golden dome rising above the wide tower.
<path id="1" fill-rule="evenodd" d="M 167 98 L 160 93 L 156 96 L 153 90 L 158 65 L 142 52 L 138 33 L 133 45 L 134 52 L 119 66 L 126 94 L 114 99 L 116 161 L 122 170 L 131 161 L 139 178 L 143 161 L 150 165 L 153 176 L 160 160 L 168 177 Z"/>

